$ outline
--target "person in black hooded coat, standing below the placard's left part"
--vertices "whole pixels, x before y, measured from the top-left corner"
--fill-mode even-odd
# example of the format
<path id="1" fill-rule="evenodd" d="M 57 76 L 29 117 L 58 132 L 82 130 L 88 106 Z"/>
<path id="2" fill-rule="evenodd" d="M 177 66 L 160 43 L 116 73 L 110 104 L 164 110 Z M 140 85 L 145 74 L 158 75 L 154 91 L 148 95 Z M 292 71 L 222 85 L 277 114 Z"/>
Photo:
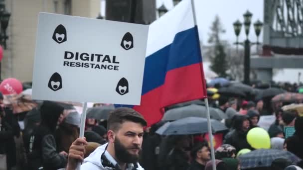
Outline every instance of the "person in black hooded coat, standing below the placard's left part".
<path id="1" fill-rule="evenodd" d="M 63 110 L 62 106 L 52 101 L 44 101 L 41 105 L 41 124 L 34 129 L 29 142 L 29 170 L 56 170 L 66 166 L 67 153 L 57 152 L 54 137 Z"/>

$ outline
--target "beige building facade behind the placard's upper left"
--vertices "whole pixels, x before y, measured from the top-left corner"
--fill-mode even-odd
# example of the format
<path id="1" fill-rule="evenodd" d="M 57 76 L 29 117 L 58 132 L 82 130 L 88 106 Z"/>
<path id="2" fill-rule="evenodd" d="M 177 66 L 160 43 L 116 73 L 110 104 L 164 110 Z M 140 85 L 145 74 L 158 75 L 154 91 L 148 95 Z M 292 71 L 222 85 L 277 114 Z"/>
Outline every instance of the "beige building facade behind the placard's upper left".
<path id="1" fill-rule="evenodd" d="M 96 18 L 100 0 L 5 0 L 11 13 L 7 27 L 7 49 L 1 61 L 1 78 L 32 81 L 39 12 Z"/>

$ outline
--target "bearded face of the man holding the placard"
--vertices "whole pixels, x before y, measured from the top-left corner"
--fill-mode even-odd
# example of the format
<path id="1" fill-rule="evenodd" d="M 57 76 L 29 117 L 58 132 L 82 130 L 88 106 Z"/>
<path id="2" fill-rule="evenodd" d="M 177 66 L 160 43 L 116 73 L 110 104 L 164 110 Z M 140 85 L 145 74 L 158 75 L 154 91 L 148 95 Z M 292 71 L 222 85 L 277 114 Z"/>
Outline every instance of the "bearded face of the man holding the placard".
<path id="1" fill-rule="evenodd" d="M 140 123 L 124 122 L 115 136 L 115 155 L 123 163 L 138 162 L 143 142 L 143 126 Z"/>

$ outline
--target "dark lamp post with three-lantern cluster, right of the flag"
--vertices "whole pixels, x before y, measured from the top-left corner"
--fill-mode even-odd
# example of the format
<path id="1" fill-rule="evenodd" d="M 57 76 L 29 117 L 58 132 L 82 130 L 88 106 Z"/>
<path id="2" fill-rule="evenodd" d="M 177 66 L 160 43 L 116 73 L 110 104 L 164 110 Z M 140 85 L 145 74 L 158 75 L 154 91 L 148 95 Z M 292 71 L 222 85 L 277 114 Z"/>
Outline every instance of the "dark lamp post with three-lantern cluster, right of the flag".
<path id="1" fill-rule="evenodd" d="M 249 30 L 250 30 L 250 25 L 251 25 L 251 19 L 252 19 L 253 14 L 250 11 L 246 11 L 243 14 L 244 17 L 244 28 L 245 28 L 245 34 L 246 34 L 246 40 L 244 42 L 239 42 L 239 35 L 241 32 L 242 28 L 242 23 L 237 20 L 236 22 L 233 23 L 234 26 L 234 31 L 237 37 L 236 45 L 237 45 L 237 50 L 238 50 L 238 45 L 243 45 L 244 46 L 244 83 L 249 85 L 250 80 L 249 80 L 249 75 L 250 75 L 250 47 L 252 45 L 257 45 L 257 50 L 258 50 L 258 45 L 259 43 L 259 35 L 261 33 L 261 29 L 263 26 L 263 23 L 258 20 L 254 23 L 254 28 L 255 28 L 255 33 L 257 35 L 257 42 L 251 42 L 248 39 L 249 35 Z"/>

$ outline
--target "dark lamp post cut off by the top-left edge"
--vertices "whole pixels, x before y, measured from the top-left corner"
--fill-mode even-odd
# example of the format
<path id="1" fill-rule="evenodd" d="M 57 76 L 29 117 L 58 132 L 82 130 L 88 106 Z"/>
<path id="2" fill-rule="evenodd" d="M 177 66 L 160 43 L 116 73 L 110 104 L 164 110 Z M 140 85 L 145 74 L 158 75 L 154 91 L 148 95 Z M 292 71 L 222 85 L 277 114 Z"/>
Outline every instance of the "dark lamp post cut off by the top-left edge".
<path id="1" fill-rule="evenodd" d="M 5 0 L 0 0 L 0 45 L 6 49 L 6 40 L 8 36 L 6 35 L 6 29 L 8 26 L 8 20 L 10 17 L 10 13 L 5 10 Z M 0 61 L 0 80 L 1 79 L 1 61 Z"/>

